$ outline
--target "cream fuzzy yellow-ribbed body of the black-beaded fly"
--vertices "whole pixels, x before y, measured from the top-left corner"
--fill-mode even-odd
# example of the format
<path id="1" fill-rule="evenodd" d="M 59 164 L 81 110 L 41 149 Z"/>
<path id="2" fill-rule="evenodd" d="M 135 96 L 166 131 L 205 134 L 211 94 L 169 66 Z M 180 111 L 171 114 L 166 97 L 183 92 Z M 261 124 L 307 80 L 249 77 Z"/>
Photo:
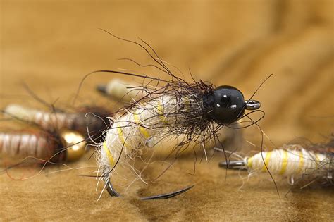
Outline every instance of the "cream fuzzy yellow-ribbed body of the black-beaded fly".
<path id="1" fill-rule="evenodd" d="M 107 130 L 105 142 L 101 144 L 101 166 L 112 167 L 118 159 L 135 155 L 166 128 L 175 128 L 184 121 L 180 111 L 185 109 L 190 109 L 189 100 L 164 95 L 138 104 L 122 117 L 114 117 L 113 126 Z"/>

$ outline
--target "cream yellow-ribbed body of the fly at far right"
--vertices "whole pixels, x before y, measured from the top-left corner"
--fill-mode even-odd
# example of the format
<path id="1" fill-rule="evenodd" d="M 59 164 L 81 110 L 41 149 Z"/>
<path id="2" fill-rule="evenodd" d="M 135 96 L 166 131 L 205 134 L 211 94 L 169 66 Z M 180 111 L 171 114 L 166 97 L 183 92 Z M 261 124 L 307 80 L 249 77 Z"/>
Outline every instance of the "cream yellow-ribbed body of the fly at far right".
<path id="1" fill-rule="evenodd" d="M 275 149 L 271 152 L 262 152 L 262 155 L 258 153 L 246 158 L 245 163 L 249 171 L 266 171 L 267 166 L 273 174 L 289 176 L 311 173 L 320 168 L 330 168 L 326 155 L 307 151 L 299 146 L 292 146 L 292 148 L 298 149 Z"/>

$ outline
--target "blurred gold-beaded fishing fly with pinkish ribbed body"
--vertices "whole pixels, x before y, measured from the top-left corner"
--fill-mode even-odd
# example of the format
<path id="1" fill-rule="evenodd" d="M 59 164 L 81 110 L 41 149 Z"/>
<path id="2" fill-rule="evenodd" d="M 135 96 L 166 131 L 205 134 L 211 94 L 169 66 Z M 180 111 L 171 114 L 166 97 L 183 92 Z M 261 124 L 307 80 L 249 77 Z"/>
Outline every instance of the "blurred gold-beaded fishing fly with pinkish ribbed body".
<path id="1" fill-rule="evenodd" d="M 32 157 L 43 162 L 76 161 L 85 154 L 85 138 L 78 132 L 62 130 L 59 134 L 47 131 L 0 132 L 0 153 L 12 157 Z"/>

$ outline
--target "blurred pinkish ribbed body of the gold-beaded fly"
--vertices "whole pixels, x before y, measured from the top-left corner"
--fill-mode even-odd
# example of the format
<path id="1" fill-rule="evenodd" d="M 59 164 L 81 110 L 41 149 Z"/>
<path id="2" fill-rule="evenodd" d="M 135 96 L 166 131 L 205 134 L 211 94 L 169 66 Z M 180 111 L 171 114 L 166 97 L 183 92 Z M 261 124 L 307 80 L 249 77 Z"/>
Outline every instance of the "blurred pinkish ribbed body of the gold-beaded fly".
<path id="1" fill-rule="evenodd" d="M 0 132 L 0 153 L 8 156 L 49 159 L 57 147 L 56 142 L 47 136 Z"/>

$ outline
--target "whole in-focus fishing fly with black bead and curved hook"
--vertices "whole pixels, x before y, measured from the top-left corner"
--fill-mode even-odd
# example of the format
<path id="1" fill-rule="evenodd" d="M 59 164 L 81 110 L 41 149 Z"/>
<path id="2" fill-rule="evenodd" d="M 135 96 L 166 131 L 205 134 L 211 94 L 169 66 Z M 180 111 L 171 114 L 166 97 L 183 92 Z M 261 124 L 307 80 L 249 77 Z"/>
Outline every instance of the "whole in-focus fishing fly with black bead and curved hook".
<path id="1" fill-rule="evenodd" d="M 116 37 L 110 32 L 108 33 Z M 138 87 L 142 97 L 132 102 L 130 106 L 120 109 L 111 118 L 113 124 L 106 130 L 104 142 L 97 146 L 99 153 L 97 156 L 98 172 L 101 173 L 100 180 L 104 180 L 109 195 L 120 196 L 111 183 L 111 176 L 116 170 L 116 166 L 125 166 L 129 159 L 140 154 L 140 150 L 152 137 L 184 135 L 178 147 L 187 146 L 190 142 L 201 144 L 202 147 L 205 147 L 205 144 L 209 142 L 220 144 L 218 130 L 226 126 L 233 127 L 235 121 L 245 116 L 249 117 L 249 114 L 255 111 L 264 113 L 258 110 L 260 102 L 252 100 L 257 90 L 250 99 L 245 99 L 242 92 L 232 86 L 216 87 L 210 82 L 197 81 L 194 78 L 192 78 L 193 82 L 187 82 L 174 75 L 166 63 L 159 58 L 156 51 L 143 40 L 141 40 L 143 44 L 140 44 L 128 39 L 116 38 L 132 42 L 144 49 L 155 64 L 140 66 L 153 66 L 166 73 L 171 80 L 118 70 L 97 70 L 82 78 L 82 82 L 84 82 L 89 75 L 103 72 L 149 80 L 149 83 Z M 245 110 L 251 112 L 246 114 Z M 252 118 L 249 119 L 252 121 Z M 250 125 L 256 124 L 259 120 L 252 121 Z M 142 199 L 174 197 L 191 187 L 168 194 L 142 197 Z"/>

